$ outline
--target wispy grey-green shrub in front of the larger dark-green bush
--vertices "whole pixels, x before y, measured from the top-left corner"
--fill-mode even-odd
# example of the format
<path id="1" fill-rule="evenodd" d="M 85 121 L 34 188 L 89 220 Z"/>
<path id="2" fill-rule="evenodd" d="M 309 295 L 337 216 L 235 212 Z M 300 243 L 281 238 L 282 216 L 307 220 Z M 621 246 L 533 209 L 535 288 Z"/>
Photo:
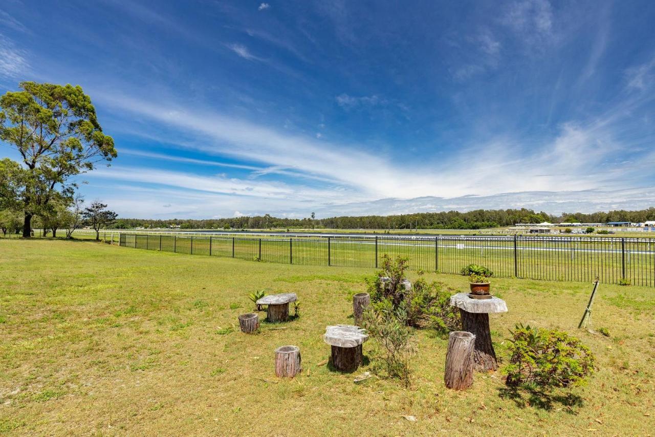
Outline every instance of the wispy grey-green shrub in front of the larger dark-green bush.
<path id="1" fill-rule="evenodd" d="M 364 311 L 362 326 L 383 348 L 384 369 L 389 377 L 400 379 L 409 386 L 409 363 L 416 349 L 411 328 L 407 327 L 406 303 L 393 308 L 386 299 L 377 308 Z"/>

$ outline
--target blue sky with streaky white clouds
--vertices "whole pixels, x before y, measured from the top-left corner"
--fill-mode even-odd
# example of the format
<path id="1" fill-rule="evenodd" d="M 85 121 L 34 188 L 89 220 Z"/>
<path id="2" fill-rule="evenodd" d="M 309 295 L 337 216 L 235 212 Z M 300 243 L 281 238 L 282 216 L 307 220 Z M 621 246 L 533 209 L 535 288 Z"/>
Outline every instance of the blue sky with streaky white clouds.
<path id="1" fill-rule="evenodd" d="M 655 204 L 652 1 L 19 1 L 0 91 L 90 94 L 123 217 Z M 7 145 L 0 156 L 15 157 Z"/>

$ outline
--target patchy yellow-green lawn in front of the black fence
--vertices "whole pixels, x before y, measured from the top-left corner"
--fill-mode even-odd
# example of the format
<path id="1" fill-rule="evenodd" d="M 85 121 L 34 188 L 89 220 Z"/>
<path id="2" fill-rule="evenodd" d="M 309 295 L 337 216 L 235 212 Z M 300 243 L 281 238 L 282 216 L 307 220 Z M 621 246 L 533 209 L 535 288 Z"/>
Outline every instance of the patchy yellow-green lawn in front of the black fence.
<path id="1" fill-rule="evenodd" d="M 655 292 L 495 279 L 510 311 L 491 316 L 506 359 L 517 322 L 577 333 L 597 356 L 589 385 L 551 398 L 506 396 L 500 372 L 465 392 L 443 385 L 447 341 L 417 331 L 411 388 L 353 382 L 322 365 L 328 324 L 373 269 L 303 266 L 126 249 L 91 241 L 0 240 L 0 432 L 15 435 L 645 435 L 655 421 Z M 426 275 L 455 291 L 466 278 Z M 413 275 L 410 275 L 410 279 Z M 295 292 L 301 318 L 238 331 L 248 293 Z M 263 314 L 261 314 L 263 317 Z M 282 329 L 280 329 L 282 328 Z M 301 348 L 303 373 L 273 374 L 273 350 Z M 364 345 L 376 362 L 375 341 Z M 417 421 L 407 421 L 413 415 Z"/>

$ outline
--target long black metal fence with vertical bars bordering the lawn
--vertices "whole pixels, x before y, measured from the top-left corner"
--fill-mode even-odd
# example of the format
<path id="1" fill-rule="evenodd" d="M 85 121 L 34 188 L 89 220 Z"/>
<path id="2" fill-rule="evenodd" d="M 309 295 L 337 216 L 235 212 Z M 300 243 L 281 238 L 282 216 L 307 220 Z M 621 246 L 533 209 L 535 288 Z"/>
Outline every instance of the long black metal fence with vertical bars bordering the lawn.
<path id="1" fill-rule="evenodd" d="M 487 266 L 494 276 L 655 286 L 655 239 L 531 236 L 325 236 L 267 238 L 121 234 L 125 247 L 317 266 L 379 266 L 384 254 L 413 270 L 459 273 Z"/>

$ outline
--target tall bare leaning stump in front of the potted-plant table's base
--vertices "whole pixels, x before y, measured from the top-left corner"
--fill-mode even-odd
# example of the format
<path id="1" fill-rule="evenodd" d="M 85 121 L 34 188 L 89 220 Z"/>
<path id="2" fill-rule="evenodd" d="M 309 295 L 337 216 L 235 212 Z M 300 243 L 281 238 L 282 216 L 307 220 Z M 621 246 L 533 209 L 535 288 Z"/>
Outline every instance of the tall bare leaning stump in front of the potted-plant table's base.
<path id="1" fill-rule="evenodd" d="M 473 384 L 473 350 L 476 336 L 466 331 L 451 332 L 448 337 L 443 382 L 453 390 L 465 390 Z"/>

